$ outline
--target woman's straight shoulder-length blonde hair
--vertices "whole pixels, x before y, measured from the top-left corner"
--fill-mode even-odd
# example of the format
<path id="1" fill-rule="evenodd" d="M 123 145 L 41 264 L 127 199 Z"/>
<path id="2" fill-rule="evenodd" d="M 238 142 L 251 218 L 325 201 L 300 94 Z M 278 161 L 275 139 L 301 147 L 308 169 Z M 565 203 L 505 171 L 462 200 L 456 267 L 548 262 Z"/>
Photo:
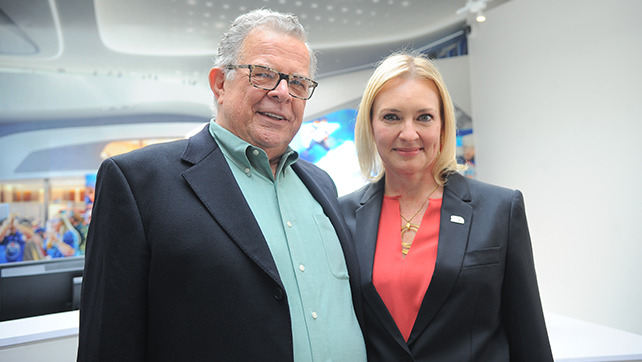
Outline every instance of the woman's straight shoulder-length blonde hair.
<path id="1" fill-rule="evenodd" d="M 438 184 L 443 185 L 449 173 L 464 169 L 465 166 L 457 164 L 457 119 L 450 94 L 437 67 L 421 54 L 393 53 L 379 64 L 368 80 L 359 104 L 354 136 L 361 173 L 372 182 L 381 179 L 385 173 L 372 131 L 372 104 L 389 80 L 400 77 L 428 79 L 439 90 L 441 151 L 433 166 L 433 177 Z"/>

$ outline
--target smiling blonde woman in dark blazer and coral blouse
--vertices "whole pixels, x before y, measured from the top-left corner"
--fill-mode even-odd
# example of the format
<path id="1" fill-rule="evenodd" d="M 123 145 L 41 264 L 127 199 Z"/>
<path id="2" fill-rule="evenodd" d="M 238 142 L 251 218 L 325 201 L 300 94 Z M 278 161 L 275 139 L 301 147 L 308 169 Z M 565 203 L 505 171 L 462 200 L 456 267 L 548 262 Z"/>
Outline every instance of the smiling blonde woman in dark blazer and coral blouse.
<path id="1" fill-rule="evenodd" d="M 519 191 L 461 176 L 435 66 L 393 54 L 355 142 L 372 181 L 340 200 L 361 268 L 369 361 L 552 361 Z"/>

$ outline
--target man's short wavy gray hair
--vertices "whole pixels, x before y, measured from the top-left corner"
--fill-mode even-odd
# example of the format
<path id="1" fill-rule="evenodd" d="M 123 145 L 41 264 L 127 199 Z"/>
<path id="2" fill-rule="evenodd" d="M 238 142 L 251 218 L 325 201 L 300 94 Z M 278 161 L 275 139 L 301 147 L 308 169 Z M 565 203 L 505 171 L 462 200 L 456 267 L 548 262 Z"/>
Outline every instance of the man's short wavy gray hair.
<path id="1" fill-rule="evenodd" d="M 307 33 L 299 19 L 292 14 L 284 14 L 269 9 L 256 9 L 242 14 L 234 20 L 230 28 L 221 37 L 218 47 L 218 56 L 214 62 L 215 67 L 236 64 L 241 59 L 243 41 L 254 29 L 263 27 L 279 33 L 290 35 L 305 43 L 310 54 L 309 77 L 314 79 L 317 67 L 317 59 L 314 51 L 310 48 L 307 40 Z M 229 70 L 225 74 L 232 76 Z"/>

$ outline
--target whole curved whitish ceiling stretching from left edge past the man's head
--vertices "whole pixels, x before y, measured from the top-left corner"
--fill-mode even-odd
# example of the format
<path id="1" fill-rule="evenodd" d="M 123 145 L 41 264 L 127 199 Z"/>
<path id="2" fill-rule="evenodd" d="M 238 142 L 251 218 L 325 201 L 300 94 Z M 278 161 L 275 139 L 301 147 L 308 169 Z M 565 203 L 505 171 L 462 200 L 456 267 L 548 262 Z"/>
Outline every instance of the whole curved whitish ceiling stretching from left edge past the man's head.
<path id="1" fill-rule="evenodd" d="M 488 8 L 505 1 L 494 0 Z M 237 15 L 254 8 L 300 18 L 318 51 L 323 79 L 463 28 L 467 15 L 456 11 L 465 4 L 0 0 L 0 136 L 2 127 L 24 122 L 208 112 L 207 72 L 218 39 Z"/>

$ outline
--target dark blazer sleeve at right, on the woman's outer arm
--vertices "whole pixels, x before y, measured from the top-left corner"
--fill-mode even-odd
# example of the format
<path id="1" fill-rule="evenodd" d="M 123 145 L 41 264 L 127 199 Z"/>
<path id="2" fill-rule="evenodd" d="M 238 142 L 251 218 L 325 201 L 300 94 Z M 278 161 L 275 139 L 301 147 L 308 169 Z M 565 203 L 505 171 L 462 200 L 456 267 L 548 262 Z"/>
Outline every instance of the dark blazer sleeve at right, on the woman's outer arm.
<path id="1" fill-rule="evenodd" d="M 511 202 L 502 320 L 511 361 L 553 361 L 540 301 L 522 193 Z"/>

